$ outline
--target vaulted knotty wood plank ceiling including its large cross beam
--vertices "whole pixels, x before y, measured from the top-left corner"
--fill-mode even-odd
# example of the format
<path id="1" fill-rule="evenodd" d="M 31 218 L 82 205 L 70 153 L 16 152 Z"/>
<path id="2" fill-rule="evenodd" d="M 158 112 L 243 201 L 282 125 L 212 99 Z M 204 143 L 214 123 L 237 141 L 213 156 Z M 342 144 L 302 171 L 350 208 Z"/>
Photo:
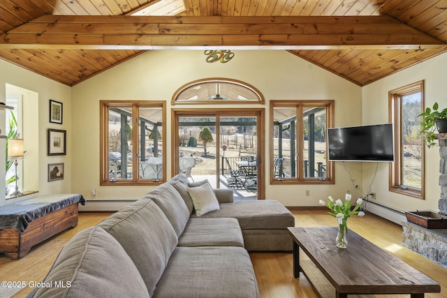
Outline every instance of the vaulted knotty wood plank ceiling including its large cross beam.
<path id="1" fill-rule="evenodd" d="M 129 15 L 131 22 L 113 17 Z M 112 17 L 105 22 L 96 16 Z M 196 30 L 192 23 L 199 24 Z M 178 36 L 169 36 L 176 30 Z M 61 42 L 62 31 L 71 33 L 71 40 Z M 106 34 L 115 31 L 127 34 L 126 46 Z M 216 40 L 226 48 L 273 46 L 365 86 L 447 51 L 447 0 L 0 1 L 0 59 L 68 86 L 147 49 L 163 48 L 155 45 L 175 48 L 173 41 L 157 41 L 166 36 L 177 38 L 180 49 L 196 45 L 193 40 L 197 45 Z"/>

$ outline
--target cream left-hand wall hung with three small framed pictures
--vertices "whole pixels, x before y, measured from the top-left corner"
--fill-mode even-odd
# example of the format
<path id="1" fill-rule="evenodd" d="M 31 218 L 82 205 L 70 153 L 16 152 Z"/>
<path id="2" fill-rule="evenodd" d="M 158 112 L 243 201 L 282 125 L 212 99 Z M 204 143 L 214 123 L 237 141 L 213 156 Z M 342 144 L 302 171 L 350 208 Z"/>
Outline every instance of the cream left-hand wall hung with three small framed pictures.
<path id="1" fill-rule="evenodd" d="M 6 84 L 11 84 L 23 89 L 34 91 L 38 94 L 38 109 L 34 115 L 38 117 L 38 143 L 27 142 L 25 146 L 38 146 L 38 195 L 48 193 L 71 192 L 71 87 L 54 82 L 41 75 L 31 73 L 6 61 L 0 60 L 0 102 L 5 102 Z M 49 100 L 54 99 L 64 103 L 64 124 L 50 124 Z M 24 103 L 26 105 L 26 103 Z M 32 114 L 28 117 L 33 117 Z M 47 156 L 47 128 L 64 129 L 67 131 L 67 156 Z M 27 150 L 27 147 L 24 149 Z M 0 158 L 4 151 L 0 151 Z M 3 157 L 4 158 L 4 157 Z M 47 164 L 65 163 L 66 176 L 64 180 L 47 182 Z M 0 206 L 9 204 L 14 200 L 6 201 L 4 195 L 0 195 Z M 20 199 L 18 199 L 20 200 Z"/>

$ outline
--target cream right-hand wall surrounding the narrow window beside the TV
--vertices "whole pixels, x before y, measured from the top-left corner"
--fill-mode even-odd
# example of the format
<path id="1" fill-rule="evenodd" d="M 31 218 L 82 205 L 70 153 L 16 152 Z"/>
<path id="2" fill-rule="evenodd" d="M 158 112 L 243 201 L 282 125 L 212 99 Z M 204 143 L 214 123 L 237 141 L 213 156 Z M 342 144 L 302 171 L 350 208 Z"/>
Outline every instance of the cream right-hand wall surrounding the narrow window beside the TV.
<path id="1" fill-rule="evenodd" d="M 388 91 L 407 84 L 425 80 L 425 106 L 432 107 L 436 101 L 439 107 L 447 107 L 447 54 L 441 54 L 411 68 L 401 70 L 382 80 L 362 88 L 363 124 L 386 123 L 388 120 Z M 372 180 L 373 165 L 365 165 L 363 186 Z M 372 186 L 376 202 L 400 211 L 432 209 L 438 211 L 439 187 L 439 147 L 425 147 L 425 200 L 411 198 L 388 191 L 388 165 L 380 165 Z"/>

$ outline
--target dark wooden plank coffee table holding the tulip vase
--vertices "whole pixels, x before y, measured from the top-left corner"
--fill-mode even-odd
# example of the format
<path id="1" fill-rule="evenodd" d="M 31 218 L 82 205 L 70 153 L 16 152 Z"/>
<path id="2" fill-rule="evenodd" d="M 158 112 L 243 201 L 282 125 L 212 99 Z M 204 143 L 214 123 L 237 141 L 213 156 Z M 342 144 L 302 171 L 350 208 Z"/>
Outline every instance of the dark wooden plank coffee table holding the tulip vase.
<path id="1" fill-rule="evenodd" d="M 293 275 L 300 276 L 300 248 L 335 288 L 336 297 L 351 294 L 441 292 L 441 286 L 394 255 L 351 230 L 348 248 L 335 246 L 337 228 L 288 228 L 293 237 Z M 305 271 L 302 271 L 309 280 Z M 312 281 L 309 280 L 312 283 Z"/>

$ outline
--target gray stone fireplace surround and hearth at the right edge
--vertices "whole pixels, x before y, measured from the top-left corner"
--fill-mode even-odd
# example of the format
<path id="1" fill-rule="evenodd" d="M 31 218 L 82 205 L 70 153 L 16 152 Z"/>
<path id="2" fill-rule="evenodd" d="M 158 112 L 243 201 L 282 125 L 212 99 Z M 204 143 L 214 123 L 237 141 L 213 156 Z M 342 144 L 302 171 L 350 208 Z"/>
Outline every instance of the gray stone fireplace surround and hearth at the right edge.
<path id="1" fill-rule="evenodd" d="M 439 214 L 447 215 L 447 134 L 439 135 Z M 411 210 L 412 211 L 412 210 Z M 426 229 L 402 221 L 402 244 L 447 268 L 447 229 Z"/>

